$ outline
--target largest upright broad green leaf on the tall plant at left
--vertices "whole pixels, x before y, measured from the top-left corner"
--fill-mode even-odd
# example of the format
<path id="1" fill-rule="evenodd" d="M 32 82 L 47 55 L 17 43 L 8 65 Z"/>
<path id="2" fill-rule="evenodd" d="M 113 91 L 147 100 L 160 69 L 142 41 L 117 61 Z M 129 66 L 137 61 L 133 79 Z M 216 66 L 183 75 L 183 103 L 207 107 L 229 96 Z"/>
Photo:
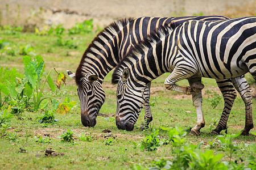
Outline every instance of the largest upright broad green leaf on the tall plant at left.
<path id="1" fill-rule="evenodd" d="M 35 89 L 38 83 L 38 76 L 36 75 L 36 71 L 32 63 L 28 63 L 27 66 L 24 67 L 24 73 L 32 88 Z"/>

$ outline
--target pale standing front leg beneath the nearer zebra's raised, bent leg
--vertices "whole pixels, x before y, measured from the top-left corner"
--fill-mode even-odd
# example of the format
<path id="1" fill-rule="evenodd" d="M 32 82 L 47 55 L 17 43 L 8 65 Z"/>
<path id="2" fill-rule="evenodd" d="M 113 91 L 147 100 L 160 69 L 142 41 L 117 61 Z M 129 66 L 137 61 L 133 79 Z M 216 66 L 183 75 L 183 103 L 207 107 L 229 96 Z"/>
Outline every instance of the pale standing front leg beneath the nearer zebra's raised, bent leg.
<path id="1" fill-rule="evenodd" d="M 200 129 L 204 128 L 205 121 L 204 121 L 204 113 L 202 108 L 203 98 L 202 92 L 199 90 L 200 88 L 204 87 L 204 84 L 201 83 L 201 78 L 188 80 L 189 86 L 192 87 L 194 92 L 192 94 L 193 105 L 196 108 L 196 126 L 193 127 L 189 133 L 189 135 L 200 135 Z M 203 86 L 202 86 L 203 85 Z"/>

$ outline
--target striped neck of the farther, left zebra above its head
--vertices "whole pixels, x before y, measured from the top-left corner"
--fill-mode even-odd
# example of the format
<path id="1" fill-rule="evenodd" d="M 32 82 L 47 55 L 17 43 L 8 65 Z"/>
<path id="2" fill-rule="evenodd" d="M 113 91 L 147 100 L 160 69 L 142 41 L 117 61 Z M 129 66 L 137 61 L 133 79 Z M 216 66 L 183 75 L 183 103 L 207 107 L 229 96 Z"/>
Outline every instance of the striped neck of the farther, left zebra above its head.
<path id="1" fill-rule="evenodd" d="M 97 75 L 98 80 L 102 83 L 105 76 L 121 60 L 118 55 L 121 32 L 122 29 L 117 31 L 112 27 L 105 28 L 88 46 L 77 70 L 81 69 L 82 75 Z"/>

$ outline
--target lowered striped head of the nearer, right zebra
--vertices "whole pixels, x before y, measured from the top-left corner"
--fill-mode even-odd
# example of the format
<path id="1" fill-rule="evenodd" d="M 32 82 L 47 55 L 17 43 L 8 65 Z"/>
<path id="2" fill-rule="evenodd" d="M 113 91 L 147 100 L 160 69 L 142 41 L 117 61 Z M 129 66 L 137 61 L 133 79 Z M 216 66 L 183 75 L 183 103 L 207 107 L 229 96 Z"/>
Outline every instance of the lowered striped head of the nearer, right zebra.
<path id="1" fill-rule="evenodd" d="M 118 71 L 117 71 L 118 72 Z M 118 129 L 131 131 L 139 117 L 146 98 L 149 98 L 148 86 L 135 87 L 130 80 L 130 71 L 125 69 L 119 70 L 122 75 L 112 79 L 113 84 L 117 84 L 117 112 L 115 114 L 115 122 Z M 135 87 L 135 88 L 134 88 Z"/>

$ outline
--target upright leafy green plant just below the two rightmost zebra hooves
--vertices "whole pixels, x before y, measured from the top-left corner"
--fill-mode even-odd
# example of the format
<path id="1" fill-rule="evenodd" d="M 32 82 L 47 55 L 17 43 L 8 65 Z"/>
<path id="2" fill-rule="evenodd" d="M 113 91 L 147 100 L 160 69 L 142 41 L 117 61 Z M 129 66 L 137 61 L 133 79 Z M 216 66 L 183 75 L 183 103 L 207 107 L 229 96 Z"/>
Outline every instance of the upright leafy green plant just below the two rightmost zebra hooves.
<path id="1" fill-rule="evenodd" d="M 238 146 L 235 145 L 236 142 L 233 142 L 233 139 L 238 137 L 241 133 L 238 134 L 226 134 L 218 135 L 218 142 L 220 143 L 220 146 L 223 148 L 225 152 L 229 152 L 229 162 L 231 162 L 232 154 L 236 153 L 238 151 Z"/>

